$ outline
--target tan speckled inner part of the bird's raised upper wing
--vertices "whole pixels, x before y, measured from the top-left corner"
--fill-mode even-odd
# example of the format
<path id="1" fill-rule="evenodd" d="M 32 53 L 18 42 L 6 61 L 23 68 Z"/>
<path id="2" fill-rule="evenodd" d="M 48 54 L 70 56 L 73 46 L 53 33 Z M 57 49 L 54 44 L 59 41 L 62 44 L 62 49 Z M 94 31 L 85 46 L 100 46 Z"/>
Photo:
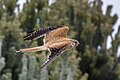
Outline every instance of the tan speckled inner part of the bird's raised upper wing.
<path id="1" fill-rule="evenodd" d="M 58 39 L 66 38 L 68 30 L 69 30 L 69 27 L 63 26 L 63 27 L 57 28 L 57 29 L 47 33 L 44 37 L 44 44 L 49 43 L 49 42 L 54 43 L 54 41 L 56 41 Z"/>

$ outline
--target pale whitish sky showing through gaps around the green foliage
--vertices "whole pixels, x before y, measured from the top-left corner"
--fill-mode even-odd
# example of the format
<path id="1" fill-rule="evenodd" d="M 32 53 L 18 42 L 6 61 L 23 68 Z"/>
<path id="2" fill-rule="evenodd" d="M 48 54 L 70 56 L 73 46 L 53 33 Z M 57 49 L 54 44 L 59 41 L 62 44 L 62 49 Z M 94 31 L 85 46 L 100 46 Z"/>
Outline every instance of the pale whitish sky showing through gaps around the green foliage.
<path id="1" fill-rule="evenodd" d="M 52 4 L 55 0 L 49 0 L 49 4 Z M 93 1 L 93 0 L 90 0 L 90 1 Z M 108 5 L 113 5 L 113 8 L 112 8 L 112 13 L 111 15 L 114 15 L 114 14 L 117 14 L 118 15 L 118 20 L 116 22 L 116 24 L 113 26 L 113 33 L 112 33 L 112 36 L 113 38 L 115 38 L 115 34 L 117 33 L 118 31 L 118 27 L 120 25 L 120 0 L 102 0 L 103 1 L 103 6 L 102 6 L 102 10 L 103 10 L 103 14 L 105 14 L 106 12 L 106 8 Z M 20 4 L 20 10 L 22 10 L 23 8 L 23 3 L 25 3 L 26 0 L 18 0 L 18 4 Z M 108 39 L 107 39 L 107 49 L 109 49 L 111 47 L 111 38 L 110 36 L 108 36 Z M 120 46 L 118 48 L 118 55 L 120 55 Z"/>

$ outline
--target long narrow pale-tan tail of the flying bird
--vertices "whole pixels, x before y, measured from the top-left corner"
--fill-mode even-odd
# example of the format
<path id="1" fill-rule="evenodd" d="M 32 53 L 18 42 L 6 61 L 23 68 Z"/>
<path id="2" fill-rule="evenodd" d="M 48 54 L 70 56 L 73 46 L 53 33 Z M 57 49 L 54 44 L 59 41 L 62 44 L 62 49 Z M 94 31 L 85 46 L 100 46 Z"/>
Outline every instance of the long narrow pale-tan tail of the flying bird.
<path id="1" fill-rule="evenodd" d="M 25 49 L 19 49 L 16 52 L 37 52 L 37 51 L 45 51 L 48 50 L 45 46 L 38 46 L 33 48 L 25 48 Z"/>

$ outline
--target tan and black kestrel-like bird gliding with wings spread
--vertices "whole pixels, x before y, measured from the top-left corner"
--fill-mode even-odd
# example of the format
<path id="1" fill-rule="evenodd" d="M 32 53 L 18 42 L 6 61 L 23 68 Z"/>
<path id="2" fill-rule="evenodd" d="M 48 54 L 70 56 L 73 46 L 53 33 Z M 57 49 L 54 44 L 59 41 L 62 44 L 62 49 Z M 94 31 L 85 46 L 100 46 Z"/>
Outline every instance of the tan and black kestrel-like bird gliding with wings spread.
<path id="1" fill-rule="evenodd" d="M 16 52 L 49 51 L 50 55 L 48 56 L 48 59 L 41 65 L 41 68 L 43 68 L 55 60 L 65 50 L 75 48 L 79 44 L 77 40 L 67 37 L 68 30 L 69 27 L 59 25 L 27 33 L 26 36 L 23 37 L 24 40 L 36 40 L 44 36 L 43 45 L 33 48 L 19 49 Z"/>

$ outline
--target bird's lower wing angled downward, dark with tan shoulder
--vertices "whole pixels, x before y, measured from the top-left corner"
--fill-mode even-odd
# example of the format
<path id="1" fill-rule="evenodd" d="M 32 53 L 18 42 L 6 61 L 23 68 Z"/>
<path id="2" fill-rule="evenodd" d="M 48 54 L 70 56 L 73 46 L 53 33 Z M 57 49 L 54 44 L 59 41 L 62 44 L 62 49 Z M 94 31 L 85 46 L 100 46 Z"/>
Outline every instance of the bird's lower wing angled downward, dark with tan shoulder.
<path id="1" fill-rule="evenodd" d="M 45 61 L 42 65 L 41 68 L 47 66 L 48 64 L 50 64 L 52 61 L 54 61 L 58 56 L 60 56 L 66 49 L 69 48 L 69 41 L 65 41 L 65 42 L 61 42 L 61 43 L 54 43 L 53 45 L 51 45 L 49 47 L 49 51 L 50 51 L 50 55 L 47 59 L 47 61 Z"/>

